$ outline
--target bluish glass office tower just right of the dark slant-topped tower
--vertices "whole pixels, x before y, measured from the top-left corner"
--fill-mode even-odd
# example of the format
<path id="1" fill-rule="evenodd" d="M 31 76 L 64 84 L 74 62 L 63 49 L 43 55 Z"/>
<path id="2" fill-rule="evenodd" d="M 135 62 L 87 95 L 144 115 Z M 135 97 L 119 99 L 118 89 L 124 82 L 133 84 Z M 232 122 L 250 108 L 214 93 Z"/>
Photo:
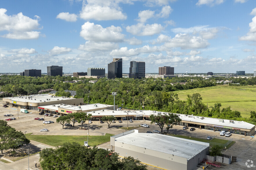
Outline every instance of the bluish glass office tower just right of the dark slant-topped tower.
<path id="1" fill-rule="evenodd" d="M 129 78 L 141 79 L 145 77 L 145 62 L 130 61 Z"/>

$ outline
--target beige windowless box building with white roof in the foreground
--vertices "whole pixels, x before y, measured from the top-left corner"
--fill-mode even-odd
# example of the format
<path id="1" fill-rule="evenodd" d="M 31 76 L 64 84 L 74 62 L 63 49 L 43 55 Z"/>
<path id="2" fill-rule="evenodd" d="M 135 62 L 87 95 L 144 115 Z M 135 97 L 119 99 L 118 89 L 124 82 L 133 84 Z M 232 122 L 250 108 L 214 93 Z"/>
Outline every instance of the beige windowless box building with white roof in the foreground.
<path id="1" fill-rule="evenodd" d="M 206 158 L 209 143 L 130 130 L 110 137 L 111 149 L 163 169 L 192 170 Z"/>

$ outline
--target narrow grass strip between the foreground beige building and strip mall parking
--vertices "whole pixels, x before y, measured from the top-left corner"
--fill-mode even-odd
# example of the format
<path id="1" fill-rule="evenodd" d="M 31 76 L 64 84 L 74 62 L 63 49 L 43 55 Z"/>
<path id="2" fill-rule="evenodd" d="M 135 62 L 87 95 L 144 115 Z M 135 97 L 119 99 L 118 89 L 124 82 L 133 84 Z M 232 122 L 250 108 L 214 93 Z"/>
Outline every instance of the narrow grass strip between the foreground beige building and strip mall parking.
<path id="1" fill-rule="evenodd" d="M 222 146 L 224 148 L 224 145 L 226 143 L 228 143 L 228 140 L 225 139 L 218 139 L 218 138 L 213 138 L 212 140 L 207 140 L 207 139 L 201 139 L 201 138 L 194 138 L 194 137 L 190 137 L 190 136 L 182 136 L 182 135 L 176 135 L 176 134 L 168 134 L 169 136 L 174 136 L 174 137 L 178 137 L 178 138 L 185 138 L 185 139 L 190 139 L 190 140 L 194 140 L 194 141 L 200 141 L 200 142 L 206 142 L 206 143 L 210 143 L 211 146 L 213 145 L 219 145 Z M 232 146 L 235 143 L 235 141 L 230 142 L 225 149 L 228 149 L 230 146 Z"/>

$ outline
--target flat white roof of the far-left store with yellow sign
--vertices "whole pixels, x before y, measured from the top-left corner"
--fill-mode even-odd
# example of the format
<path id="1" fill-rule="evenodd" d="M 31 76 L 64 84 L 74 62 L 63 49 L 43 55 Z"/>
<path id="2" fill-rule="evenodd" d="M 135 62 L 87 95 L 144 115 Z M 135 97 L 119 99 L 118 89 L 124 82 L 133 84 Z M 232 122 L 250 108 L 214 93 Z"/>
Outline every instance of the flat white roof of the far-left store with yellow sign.
<path id="1" fill-rule="evenodd" d="M 29 95 L 29 96 L 17 96 L 17 97 L 4 97 L 4 99 L 9 99 L 13 101 L 20 101 L 20 102 L 29 102 L 29 103 L 43 103 L 44 101 L 57 101 L 57 100 L 70 100 L 73 98 L 70 97 L 58 97 L 52 96 L 48 94 L 41 94 L 41 95 Z"/>

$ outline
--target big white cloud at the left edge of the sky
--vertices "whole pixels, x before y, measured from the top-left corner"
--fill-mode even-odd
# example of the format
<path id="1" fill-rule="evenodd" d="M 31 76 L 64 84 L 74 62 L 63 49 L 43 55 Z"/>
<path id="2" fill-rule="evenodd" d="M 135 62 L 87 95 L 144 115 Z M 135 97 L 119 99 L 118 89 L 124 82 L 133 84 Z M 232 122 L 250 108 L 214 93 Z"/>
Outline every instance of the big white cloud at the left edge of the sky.
<path id="1" fill-rule="evenodd" d="M 39 38 L 40 32 L 33 30 L 40 29 L 38 23 L 40 17 L 35 16 L 37 19 L 31 19 L 24 16 L 22 12 L 8 16 L 6 12 L 6 9 L 0 9 L 0 31 L 8 31 L 7 34 L 1 35 L 2 37 L 10 39 Z"/>

